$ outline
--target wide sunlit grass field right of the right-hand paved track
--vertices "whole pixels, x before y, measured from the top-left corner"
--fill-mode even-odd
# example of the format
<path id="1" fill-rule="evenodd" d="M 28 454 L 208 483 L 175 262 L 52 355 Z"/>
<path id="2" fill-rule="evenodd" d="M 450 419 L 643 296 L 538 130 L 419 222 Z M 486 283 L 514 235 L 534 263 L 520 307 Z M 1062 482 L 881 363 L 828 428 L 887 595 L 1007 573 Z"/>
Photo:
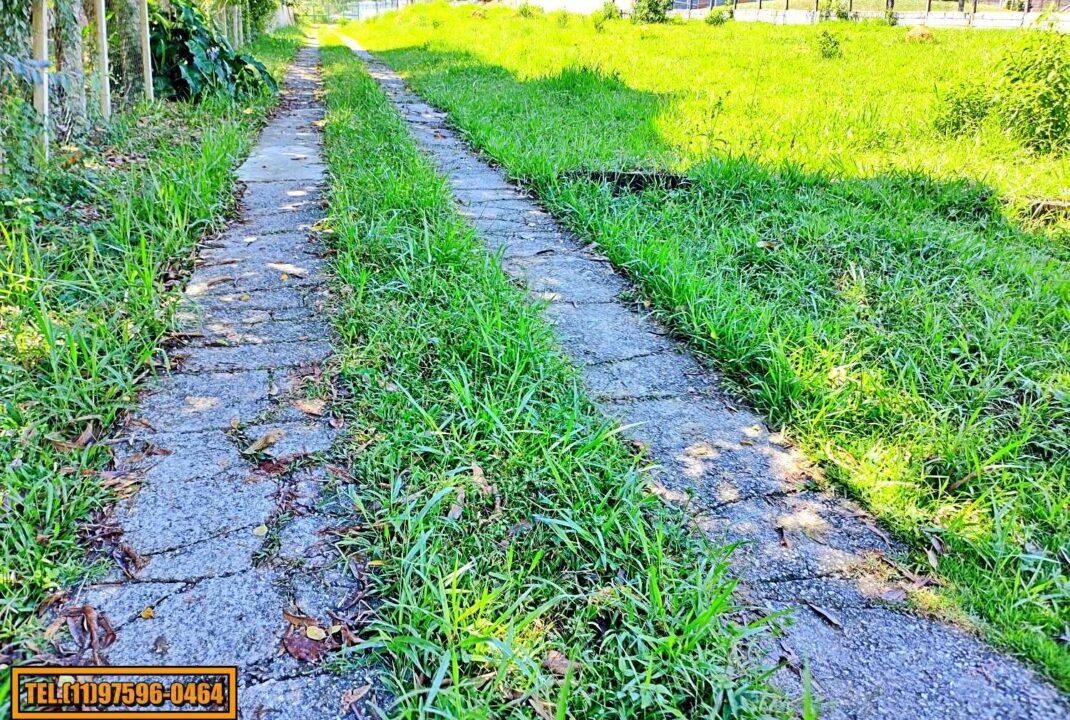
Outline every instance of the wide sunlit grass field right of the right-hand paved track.
<path id="1" fill-rule="evenodd" d="M 821 56 L 825 30 L 841 59 Z M 442 4 L 345 31 L 938 565 L 946 587 L 919 603 L 964 607 L 1070 689 L 1070 234 L 1014 219 L 1025 198 L 1070 198 L 1070 155 L 932 122 L 1021 33 L 599 30 Z M 632 167 L 692 186 L 559 177 Z"/>

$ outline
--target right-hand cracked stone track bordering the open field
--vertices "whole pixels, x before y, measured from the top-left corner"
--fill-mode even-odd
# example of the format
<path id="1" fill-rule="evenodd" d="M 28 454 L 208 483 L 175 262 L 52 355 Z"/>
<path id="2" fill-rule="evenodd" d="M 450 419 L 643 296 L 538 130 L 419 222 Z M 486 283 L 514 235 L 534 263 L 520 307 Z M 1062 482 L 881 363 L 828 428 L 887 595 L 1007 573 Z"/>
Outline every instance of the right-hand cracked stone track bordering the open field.
<path id="1" fill-rule="evenodd" d="M 1066 719 L 1070 705 L 1022 663 L 901 604 L 902 549 L 859 507 L 807 489 L 805 458 L 718 387 L 664 328 L 622 300 L 630 286 L 523 190 L 476 156 L 445 114 L 350 39 L 460 211 L 504 267 L 547 303 L 566 352 L 602 410 L 642 442 L 656 491 L 686 504 L 720 542 L 744 541 L 733 567 L 743 597 L 793 622 L 773 659 L 798 688 L 807 663 L 822 718 Z M 793 672 L 794 671 L 794 672 Z"/>

